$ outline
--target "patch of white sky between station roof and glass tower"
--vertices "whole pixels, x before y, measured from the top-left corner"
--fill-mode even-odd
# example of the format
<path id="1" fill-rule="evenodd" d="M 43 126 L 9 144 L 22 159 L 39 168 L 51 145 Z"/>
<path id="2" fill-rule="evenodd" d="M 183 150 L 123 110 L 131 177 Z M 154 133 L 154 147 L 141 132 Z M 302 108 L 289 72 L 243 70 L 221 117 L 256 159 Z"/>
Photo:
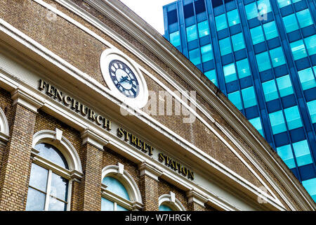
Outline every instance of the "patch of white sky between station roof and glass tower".
<path id="1" fill-rule="evenodd" d="M 132 11 L 137 13 L 143 20 L 149 23 L 160 34 L 164 34 L 164 15 L 162 6 L 176 0 L 119 0 Z"/>

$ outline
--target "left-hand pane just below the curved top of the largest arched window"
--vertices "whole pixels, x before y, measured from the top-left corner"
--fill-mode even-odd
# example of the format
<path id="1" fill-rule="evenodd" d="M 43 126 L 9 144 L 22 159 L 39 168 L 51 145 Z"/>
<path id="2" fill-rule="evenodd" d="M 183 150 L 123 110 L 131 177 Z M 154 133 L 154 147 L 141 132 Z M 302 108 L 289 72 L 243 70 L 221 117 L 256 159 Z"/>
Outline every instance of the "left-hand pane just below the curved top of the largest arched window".
<path id="1" fill-rule="evenodd" d="M 31 175 L 29 176 L 29 186 L 46 192 L 46 184 L 48 179 L 48 170 L 32 163 Z"/>

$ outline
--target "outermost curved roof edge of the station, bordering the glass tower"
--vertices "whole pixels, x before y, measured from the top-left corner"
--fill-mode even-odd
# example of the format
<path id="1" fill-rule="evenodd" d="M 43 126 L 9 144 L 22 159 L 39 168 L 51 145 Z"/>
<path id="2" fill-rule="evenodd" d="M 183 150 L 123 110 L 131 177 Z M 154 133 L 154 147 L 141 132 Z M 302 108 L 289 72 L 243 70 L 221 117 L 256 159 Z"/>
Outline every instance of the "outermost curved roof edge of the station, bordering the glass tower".
<path id="1" fill-rule="evenodd" d="M 316 210 L 315 203 L 303 188 L 301 183 L 296 179 L 296 176 L 284 164 L 279 155 L 272 149 L 268 141 L 265 141 L 263 136 L 253 127 L 253 125 L 240 113 L 229 99 L 213 84 L 207 77 L 188 60 L 183 53 L 178 51 L 162 34 L 145 22 L 140 16 L 134 13 L 128 6 L 117 0 L 84 0 L 87 4 L 95 8 L 100 13 L 107 12 L 107 18 L 110 18 L 119 27 L 123 28 L 147 49 L 155 53 L 155 56 L 162 60 L 169 68 L 177 73 L 182 79 L 195 89 L 204 100 L 215 108 L 218 113 L 242 136 L 244 141 L 256 151 L 261 157 L 261 160 L 268 165 L 275 176 L 281 179 L 283 186 L 287 187 L 287 191 L 291 193 L 292 198 L 306 210 Z M 171 3 L 172 4 L 172 3 Z M 108 6 L 108 7 L 105 7 Z M 113 11 L 114 10 L 114 11 Z M 141 32 L 142 36 L 138 35 Z M 144 37 L 145 35 L 145 37 Z M 154 62 L 152 62 L 154 63 Z M 155 63 L 154 63 L 155 64 Z M 194 86 L 192 85 L 194 84 Z M 197 88 L 198 87 L 198 88 Z M 211 98 L 217 98 L 218 104 L 214 105 Z M 223 110 L 225 109 L 225 110 Z M 234 121 L 234 123 L 232 122 Z M 235 122 L 238 123 L 235 123 Z M 251 140 L 251 141 L 250 141 Z M 261 150 L 259 150 L 261 149 Z M 282 176 L 279 176 L 282 174 Z M 295 193 L 292 192 L 291 183 L 296 187 Z M 305 198 L 309 206 L 297 198 L 298 193 Z"/>

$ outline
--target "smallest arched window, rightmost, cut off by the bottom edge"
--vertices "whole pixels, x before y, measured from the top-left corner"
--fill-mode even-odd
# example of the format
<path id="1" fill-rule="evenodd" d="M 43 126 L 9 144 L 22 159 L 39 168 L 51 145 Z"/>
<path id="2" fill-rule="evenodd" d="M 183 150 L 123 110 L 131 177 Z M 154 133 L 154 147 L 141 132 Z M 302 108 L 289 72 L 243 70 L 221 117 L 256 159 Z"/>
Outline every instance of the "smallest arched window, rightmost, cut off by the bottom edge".
<path id="1" fill-rule="evenodd" d="M 159 197 L 159 211 L 185 211 L 185 207 L 176 199 L 176 195 L 170 192 Z"/>

